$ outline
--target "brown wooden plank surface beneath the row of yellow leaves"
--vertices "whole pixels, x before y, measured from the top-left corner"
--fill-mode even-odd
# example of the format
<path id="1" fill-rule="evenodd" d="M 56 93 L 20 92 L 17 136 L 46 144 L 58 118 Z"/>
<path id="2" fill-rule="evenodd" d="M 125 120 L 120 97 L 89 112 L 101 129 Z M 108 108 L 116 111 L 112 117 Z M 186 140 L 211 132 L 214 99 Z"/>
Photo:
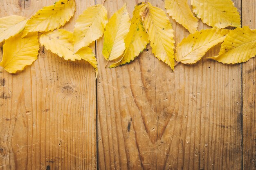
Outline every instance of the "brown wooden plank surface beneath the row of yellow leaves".
<path id="1" fill-rule="evenodd" d="M 256 29 L 256 0 L 233 1 L 243 26 Z M 0 17 L 29 18 L 54 2 L 0 0 Z M 83 10 L 102 2 L 76 0 L 64 28 L 72 31 Z M 131 16 L 141 1 L 107 0 L 108 18 L 125 2 Z M 164 0 L 149 2 L 164 9 Z M 170 20 L 180 42 L 188 31 Z M 24 71 L 0 73 L 0 170 L 256 170 L 255 57 L 236 65 L 204 58 L 173 72 L 148 46 L 110 69 L 102 45 L 92 45 L 97 81 L 89 64 L 43 47 Z"/>

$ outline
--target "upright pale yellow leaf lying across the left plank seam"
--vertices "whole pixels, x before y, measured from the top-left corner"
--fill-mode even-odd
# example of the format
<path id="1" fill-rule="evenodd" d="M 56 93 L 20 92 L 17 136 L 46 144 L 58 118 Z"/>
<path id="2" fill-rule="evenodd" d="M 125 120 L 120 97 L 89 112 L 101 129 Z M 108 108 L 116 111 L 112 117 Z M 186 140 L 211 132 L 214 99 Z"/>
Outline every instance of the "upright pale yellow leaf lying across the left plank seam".
<path id="1" fill-rule="evenodd" d="M 97 4 L 83 11 L 74 28 L 74 53 L 99 39 L 107 23 L 107 10 L 103 5 Z"/>

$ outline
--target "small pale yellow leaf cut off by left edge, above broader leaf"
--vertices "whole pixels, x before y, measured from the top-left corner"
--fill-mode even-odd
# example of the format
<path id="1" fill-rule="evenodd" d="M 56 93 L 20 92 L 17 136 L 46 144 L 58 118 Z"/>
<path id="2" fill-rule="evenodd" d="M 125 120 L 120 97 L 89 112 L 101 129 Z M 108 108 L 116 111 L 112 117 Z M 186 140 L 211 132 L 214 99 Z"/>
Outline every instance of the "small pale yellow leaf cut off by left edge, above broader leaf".
<path id="1" fill-rule="evenodd" d="M 18 15 L 0 18 L 0 43 L 23 31 L 27 19 Z"/>

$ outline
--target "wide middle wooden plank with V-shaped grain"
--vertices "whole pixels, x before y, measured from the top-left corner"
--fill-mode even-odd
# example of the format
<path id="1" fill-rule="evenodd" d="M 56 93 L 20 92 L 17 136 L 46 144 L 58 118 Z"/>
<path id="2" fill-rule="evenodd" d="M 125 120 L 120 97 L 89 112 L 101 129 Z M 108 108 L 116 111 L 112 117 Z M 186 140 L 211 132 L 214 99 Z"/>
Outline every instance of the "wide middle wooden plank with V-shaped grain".
<path id="1" fill-rule="evenodd" d="M 108 17 L 125 2 L 131 14 L 140 1 L 107 1 Z M 150 2 L 164 9 L 163 1 Z M 240 10 L 240 1 L 234 2 Z M 188 31 L 171 22 L 180 42 Z M 202 28 L 208 27 L 200 22 Z M 134 62 L 105 69 L 102 44 L 97 43 L 100 169 L 241 169 L 241 65 L 204 59 L 172 72 L 148 46 Z"/>

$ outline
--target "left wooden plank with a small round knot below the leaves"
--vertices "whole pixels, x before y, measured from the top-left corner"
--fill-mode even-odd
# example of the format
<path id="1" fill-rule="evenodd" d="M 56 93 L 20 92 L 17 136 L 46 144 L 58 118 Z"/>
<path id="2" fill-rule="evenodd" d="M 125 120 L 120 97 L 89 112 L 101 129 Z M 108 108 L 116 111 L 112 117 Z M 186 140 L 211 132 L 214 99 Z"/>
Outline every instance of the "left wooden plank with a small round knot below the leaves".
<path id="1" fill-rule="evenodd" d="M 0 17 L 30 17 L 56 0 L 1 0 Z M 74 21 L 94 0 L 76 0 Z M 94 48 L 94 46 L 92 46 Z M 2 52 L 2 51 L 1 51 Z M 41 47 L 24 71 L 0 73 L 0 170 L 92 170 L 96 161 L 94 69 Z"/>

